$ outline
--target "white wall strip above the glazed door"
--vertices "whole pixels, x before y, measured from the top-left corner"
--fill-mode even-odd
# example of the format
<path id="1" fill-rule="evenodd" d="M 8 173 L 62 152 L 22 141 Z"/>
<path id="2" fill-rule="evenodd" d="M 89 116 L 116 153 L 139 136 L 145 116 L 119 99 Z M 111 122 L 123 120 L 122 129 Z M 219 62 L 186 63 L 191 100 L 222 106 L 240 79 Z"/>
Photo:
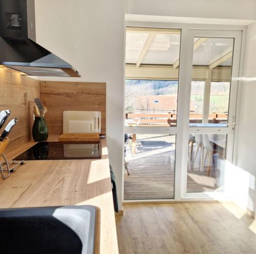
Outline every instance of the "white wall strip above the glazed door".
<path id="1" fill-rule="evenodd" d="M 256 20 L 254 0 L 127 0 L 126 13 Z"/>

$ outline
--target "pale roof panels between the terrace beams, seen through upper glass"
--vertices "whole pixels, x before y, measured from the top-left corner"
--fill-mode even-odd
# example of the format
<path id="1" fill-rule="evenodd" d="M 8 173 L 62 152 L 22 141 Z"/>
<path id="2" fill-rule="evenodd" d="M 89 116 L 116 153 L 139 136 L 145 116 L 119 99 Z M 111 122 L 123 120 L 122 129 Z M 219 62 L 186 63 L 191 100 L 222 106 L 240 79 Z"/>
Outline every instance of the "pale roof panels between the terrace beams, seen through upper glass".
<path id="1" fill-rule="evenodd" d="M 146 43 L 149 33 L 126 32 L 126 58 L 125 62 L 136 64 Z M 195 42 L 199 38 L 195 38 Z M 193 65 L 208 66 L 223 55 L 230 52 L 233 47 L 232 38 L 207 38 L 194 52 Z M 159 33 L 155 35 L 141 64 L 173 65 L 180 55 L 180 34 Z M 232 58 L 218 66 L 231 66 Z"/>

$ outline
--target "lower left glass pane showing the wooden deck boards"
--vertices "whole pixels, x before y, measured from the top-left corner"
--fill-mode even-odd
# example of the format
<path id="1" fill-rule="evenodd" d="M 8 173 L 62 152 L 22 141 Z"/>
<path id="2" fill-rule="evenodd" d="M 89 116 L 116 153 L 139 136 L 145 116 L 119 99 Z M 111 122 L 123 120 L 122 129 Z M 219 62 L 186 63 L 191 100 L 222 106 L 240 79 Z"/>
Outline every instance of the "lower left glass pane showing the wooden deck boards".
<path id="1" fill-rule="evenodd" d="M 176 135 L 126 134 L 124 200 L 174 198 Z"/>

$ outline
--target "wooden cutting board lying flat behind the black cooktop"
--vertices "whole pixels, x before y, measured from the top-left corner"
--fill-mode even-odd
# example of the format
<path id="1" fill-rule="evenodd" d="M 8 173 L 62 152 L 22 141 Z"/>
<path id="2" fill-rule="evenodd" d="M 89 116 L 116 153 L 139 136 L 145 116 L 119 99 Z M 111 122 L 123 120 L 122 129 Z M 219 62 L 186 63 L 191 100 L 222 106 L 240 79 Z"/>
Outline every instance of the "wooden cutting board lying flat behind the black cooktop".
<path id="1" fill-rule="evenodd" d="M 62 135 L 59 136 L 59 141 L 99 141 L 99 133 L 63 133 Z"/>

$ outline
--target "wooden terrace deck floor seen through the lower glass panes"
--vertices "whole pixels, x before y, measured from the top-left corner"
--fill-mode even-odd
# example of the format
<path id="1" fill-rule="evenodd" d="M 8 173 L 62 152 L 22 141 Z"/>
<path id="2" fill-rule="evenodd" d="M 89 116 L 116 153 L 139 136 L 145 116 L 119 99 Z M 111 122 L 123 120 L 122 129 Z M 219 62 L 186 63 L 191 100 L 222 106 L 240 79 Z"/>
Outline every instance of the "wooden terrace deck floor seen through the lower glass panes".
<path id="1" fill-rule="evenodd" d="M 138 135 L 136 155 L 132 157 L 126 143 L 127 171 L 124 171 L 124 200 L 172 199 L 175 179 L 175 135 Z M 140 150 L 141 149 L 141 150 Z M 194 146 L 193 158 L 196 146 Z M 210 167 L 200 171 L 200 153 L 196 162 L 188 162 L 187 191 L 213 191 L 218 188 L 217 158 Z"/>

